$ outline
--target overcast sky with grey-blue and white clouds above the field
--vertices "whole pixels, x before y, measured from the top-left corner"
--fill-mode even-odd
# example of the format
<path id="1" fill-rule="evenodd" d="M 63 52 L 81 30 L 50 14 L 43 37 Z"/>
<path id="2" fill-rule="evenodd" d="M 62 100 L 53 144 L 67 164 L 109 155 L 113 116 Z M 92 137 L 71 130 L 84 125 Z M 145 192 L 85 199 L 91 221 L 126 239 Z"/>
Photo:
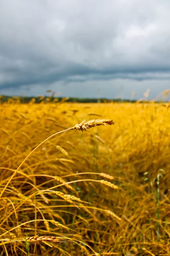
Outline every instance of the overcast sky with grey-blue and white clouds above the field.
<path id="1" fill-rule="evenodd" d="M 169 0 L 0 0 L 0 94 L 170 88 Z"/>

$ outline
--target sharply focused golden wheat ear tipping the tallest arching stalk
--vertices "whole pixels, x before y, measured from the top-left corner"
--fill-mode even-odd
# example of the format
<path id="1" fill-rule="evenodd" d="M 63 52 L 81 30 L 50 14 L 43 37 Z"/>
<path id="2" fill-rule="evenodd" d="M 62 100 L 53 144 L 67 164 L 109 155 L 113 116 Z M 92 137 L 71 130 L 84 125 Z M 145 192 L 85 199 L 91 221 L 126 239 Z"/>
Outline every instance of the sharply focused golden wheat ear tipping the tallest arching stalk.
<path id="1" fill-rule="evenodd" d="M 76 129 L 77 131 L 86 131 L 87 129 L 91 129 L 92 127 L 99 126 L 99 125 L 114 125 L 112 119 L 92 119 L 89 121 L 83 120 L 81 123 L 76 124 L 71 130 Z"/>

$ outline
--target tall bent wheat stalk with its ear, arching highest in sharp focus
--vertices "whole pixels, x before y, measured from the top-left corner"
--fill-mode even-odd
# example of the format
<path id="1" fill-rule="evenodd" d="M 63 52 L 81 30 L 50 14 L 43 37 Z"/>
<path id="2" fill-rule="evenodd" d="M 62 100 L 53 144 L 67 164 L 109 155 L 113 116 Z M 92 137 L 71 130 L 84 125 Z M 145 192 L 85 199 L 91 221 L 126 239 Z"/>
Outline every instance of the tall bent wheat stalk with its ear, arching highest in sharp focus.
<path id="1" fill-rule="evenodd" d="M 68 128 L 66 130 L 63 131 L 59 131 L 55 134 L 52 134 L 50 137 L 48 137 L 47 139 L 43 140 L 42 143 L 40 143 L 39 145 L 37 145 L 36 148 L 34 148 L 29 154 L 28 156 L 23 160 L 23 162 L 20 164 L 20 166 L 18 166 L 18 168 L 15 170 L 15 172 L 13 173 L 13 175 L 10 177 L 10 179 L 8 180 L 8 182 L 6 183 L 6 186 L 3 188 L 2 192 L 0 193 L 0 198 L 2 197 L 3 193 L 5 192 L 6 188 L 8 187 L 9 183 L 11 182 L 11 180 L 13 179 L 13 177 L 15 176 L 15 174 L 18 172 L 18 170 L 21 168 L 21 166 L 23 166 L 23 164 L 26 162 L 26 160 L 28 159 L 28 157 L 31 156 L 31 154 L 37 149 L 39 148 L 43 143 L 45 143 L 47 140 L 51 139 L 52 137 L 54 137 L 57 134 L 60 134 L 62 132 L 65 131 L 69 131 L 69 130 L 77 130 L 77 131 L 86 131 L 87 129 L 91 129 L 95 126 L 100 126 L 100 125 L 114 125 L 115 122 L 113 122 L 112 119 L 92 119 L 89 120 L 88 122 L 86 122 L 85 120 L 83 120 L 82 122 L 80 122 L 79 124 L 74 125 L 71 128 Z"/>

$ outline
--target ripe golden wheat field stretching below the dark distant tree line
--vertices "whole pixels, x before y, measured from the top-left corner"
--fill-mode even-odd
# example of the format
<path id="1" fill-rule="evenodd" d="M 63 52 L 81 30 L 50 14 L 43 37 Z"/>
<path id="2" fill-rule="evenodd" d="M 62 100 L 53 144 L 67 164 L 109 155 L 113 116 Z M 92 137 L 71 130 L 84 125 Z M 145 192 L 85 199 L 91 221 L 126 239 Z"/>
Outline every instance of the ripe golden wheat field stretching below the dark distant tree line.
<path id="1" fill-rule="evenodd" d="M 169 106 L 1 104 L 0 256 L 170 255 Z"/>

